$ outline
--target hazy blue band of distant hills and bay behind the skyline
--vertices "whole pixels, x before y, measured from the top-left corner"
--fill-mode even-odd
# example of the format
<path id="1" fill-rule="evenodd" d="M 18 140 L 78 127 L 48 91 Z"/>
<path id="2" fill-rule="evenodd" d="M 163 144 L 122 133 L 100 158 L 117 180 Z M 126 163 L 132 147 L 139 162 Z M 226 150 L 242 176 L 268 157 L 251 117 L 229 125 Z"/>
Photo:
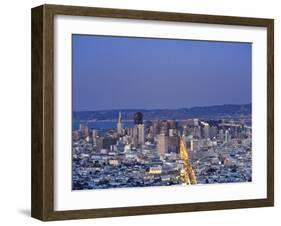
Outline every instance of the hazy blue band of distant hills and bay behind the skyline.
<path id="1" fill-rule="evenodd" d="M 132 120 L 134 112 L 143 113 L 144 120 L 157 119 L 186 119 L 186 118 L 238 118 L 252 114 L 252 105 L 215 105 L 206 107 L 192 107 L 181 109 L 114 109 L 101 111 L 75 111 L 74 121 L 86 120 L 117 120 L 119 112 L 122 112 L 124 120 Z"/>

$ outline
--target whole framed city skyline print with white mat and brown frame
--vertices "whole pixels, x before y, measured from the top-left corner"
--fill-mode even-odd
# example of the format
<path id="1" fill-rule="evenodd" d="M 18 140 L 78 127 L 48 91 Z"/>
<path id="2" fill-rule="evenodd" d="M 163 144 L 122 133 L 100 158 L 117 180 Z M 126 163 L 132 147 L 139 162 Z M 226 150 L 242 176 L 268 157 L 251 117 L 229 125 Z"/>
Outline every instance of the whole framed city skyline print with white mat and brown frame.
<path id="1" fill-rule="evenodd" d="M 32 216 L 274 205 L 272 19 L 32 9 Z"/>

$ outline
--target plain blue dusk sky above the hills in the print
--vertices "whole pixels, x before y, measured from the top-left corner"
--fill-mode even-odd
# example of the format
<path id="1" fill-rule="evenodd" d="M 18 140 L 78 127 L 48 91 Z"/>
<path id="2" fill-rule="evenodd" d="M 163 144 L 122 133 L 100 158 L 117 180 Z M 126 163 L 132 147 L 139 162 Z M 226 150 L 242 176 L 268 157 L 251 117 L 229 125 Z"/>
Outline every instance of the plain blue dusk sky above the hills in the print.
<path id="1" fill-rule="evenodd" d="M 251 103 L 250 43 L 72 35 L 73 110 Z"/>

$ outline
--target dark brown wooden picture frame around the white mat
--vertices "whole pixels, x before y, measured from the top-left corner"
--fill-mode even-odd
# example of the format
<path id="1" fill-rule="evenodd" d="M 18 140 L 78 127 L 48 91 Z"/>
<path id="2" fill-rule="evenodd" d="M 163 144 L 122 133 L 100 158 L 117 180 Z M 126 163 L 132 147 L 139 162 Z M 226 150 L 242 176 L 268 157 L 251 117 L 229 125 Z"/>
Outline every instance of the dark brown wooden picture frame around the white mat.
<path id="1" fill-rule="evenodd" d="M 267 198 L 122 208 L 54 210 L 54 16 L 126 18 L 240 25 L 267 29 Z M 32 9 L 32 200 L 31 215 L 50 220 L 163 214 L 274 205 L 274 21 L 273 19 L 42 5 Z"/>

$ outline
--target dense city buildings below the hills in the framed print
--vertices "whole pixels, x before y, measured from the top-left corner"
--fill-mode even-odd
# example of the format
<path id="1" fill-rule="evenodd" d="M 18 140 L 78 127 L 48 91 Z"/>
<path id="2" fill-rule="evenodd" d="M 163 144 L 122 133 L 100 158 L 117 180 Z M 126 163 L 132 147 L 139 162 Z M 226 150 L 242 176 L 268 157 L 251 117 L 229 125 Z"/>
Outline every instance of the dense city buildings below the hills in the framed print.
<path id="1" fill-rule="evenodd" d="M 183 185 L 188 173 L 196 184 L 252 180 L 251 126 L 244 119 L 144 119 L 136 112 L 126 128 L 120 112 L 106 130 L 80 123 L 72 134 L 73 190 Z"/>

